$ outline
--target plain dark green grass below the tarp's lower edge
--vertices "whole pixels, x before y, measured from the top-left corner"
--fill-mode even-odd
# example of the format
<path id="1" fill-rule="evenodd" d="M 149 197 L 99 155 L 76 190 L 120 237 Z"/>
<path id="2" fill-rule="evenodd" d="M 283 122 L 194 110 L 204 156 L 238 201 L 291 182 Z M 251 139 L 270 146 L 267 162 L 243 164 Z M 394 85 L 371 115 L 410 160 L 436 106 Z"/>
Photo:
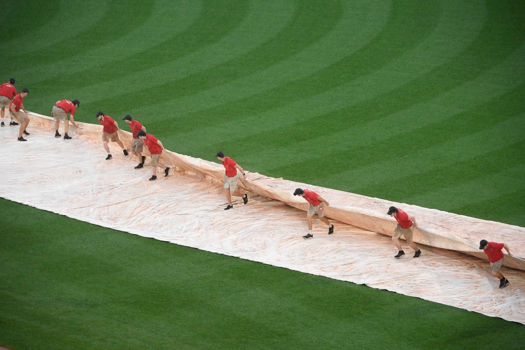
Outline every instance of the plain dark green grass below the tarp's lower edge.
<path id="1" fill-rule="evenodd" d="M 476 349 L 489 347 L 487 337 L 510 349 L 525 342 L 523 325 L 499 318 L 5 199 L 0 206 L 0 344 L 13 349 Z"/>

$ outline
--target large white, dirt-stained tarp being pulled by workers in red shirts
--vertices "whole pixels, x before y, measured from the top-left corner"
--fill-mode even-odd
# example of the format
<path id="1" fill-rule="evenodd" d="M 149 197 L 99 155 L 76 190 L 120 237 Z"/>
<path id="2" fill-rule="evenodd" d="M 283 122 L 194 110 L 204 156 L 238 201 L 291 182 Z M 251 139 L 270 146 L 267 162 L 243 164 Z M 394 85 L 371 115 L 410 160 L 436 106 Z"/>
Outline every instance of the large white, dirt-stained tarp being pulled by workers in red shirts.
<path id="1" fill-rule="evenodd" d="M 149 160 L 145 168 L 134 169 L 137 158 L 124 157 L 116 143 L 110 142 L 113 159 L 104 159 L 101 126 L 82 123 L 80 130 L 70 129 L 72 140 L 63 140 L 54 138 L 52 125 L 48 117 L 31 114 L 27 142 L 16 140 L 17 127 L 0 129 L 5 154 L 16 155 L 4 158 L 0 197 L 103 227 L 525 324 L 525 261 L 518 258 L 525 255 L 524 228 L 258 173 L 243 182 L 248 204 L 238 198 L 233 210 L 224 211 L 222 165 L 164 152 L 173 171 L 164 178 L 159 170 L 159 179 L 148 181 Z M 119 135 L 129 146 L 130 133 Z M 307 203 L 292 195 L 297 187 L 330 201 L 326 214 L 338 220 L 330 219 L 332 236 L 314 217 L 314 238 L 302 239 Z M 393 258 L 396 250 L 387 235 L 396 223 L 385 214 L 390 205 L 418 219 L 422 229 L 416 230 L 415 241 L 425 244 L 420 244 L 420 258 L 412 258 L 409 248 L 402 259 Z M 506 265 L 521 270 L 503 267 L 511 281 L 505 289 L 490 275 L 488 262 L 474 257 L 484 258 L 477 249 L 480 239 L 505 242 L 516 255 L 506 258 Z"/>

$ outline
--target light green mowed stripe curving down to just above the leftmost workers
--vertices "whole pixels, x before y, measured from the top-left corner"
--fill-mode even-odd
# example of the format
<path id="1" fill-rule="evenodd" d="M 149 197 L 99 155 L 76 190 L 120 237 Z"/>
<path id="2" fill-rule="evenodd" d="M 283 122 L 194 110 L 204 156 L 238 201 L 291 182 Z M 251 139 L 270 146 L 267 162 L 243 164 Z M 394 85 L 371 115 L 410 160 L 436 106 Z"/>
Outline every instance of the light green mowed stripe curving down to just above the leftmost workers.
<path id="1" fill-rule="evenodd" d="M 57 71 L 68 74 L 61 77 L 61 84 L 75 87 L 79 82 L 86 83 L 93 79 L 93 69 L 96 69 L 99 78 L 108 79 L 116 72 L 121 73 L 123 66 L 133 66 L 138 57 L 143 57 L 145 62 L 164 59 L 165 54 L 159 46 L 169 45 L 172 37 L 192 25 L 199 15 L 201 3 L 191 0 L 174 4 L 170 0 L 156 1 L 151 15 L 139 27 L 132 28 L 127 33 L 109 43 L 94 46 L 90 52 L 76 55 L 72 52 L 59 53 L 57 59 L 37 67 L 17 67 L 20 73 L 31 74 L 31 84 L 53 85 L 57 78 Z M 79 8 L 86 6 L 80 5 Z M 71 20 L 79 19 L 75 14 Z M 159 32 L 159 28 L 162 31 Z M 156 54 L 154 56 L 153 54 Z M 79 61 L 82 64 L 79 64 Z M 107 65 L 112 65 L 108 70 Z M 24 68 L 24 69 L 22 69 Z M 84 73 L 82 75 L 81 73 Z"/>

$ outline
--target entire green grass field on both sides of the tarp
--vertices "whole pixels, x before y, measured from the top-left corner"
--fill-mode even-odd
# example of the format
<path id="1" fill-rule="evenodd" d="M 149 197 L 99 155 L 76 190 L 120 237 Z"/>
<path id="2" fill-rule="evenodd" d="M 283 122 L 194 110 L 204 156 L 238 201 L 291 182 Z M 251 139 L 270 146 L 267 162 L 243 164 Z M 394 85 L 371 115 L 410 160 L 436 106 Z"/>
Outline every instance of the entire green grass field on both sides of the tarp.
<path id="1" fill-rule="evenodd" d="M 30 111 L 77 98 L 76 120 L 131 114 L 179 153 L 525 226 L 525 2 L 45 0 L 3 4 L 0 30 Z M 0 207 L 13 349 L 525 344 L 497 318 Z"/>

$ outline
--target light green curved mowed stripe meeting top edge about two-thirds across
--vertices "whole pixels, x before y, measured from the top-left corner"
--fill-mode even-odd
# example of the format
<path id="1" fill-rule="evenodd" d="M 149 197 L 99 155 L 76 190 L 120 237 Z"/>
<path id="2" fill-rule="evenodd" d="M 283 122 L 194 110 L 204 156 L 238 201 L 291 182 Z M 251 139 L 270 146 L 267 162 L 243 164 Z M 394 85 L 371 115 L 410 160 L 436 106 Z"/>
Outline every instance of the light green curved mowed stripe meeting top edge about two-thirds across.
<path id="1" fill-rule="evenodd" d="M 171 111 L 172 120 L 195 117 L 202 121 L 203 118 L 224 116 L 224 122 L 230 122 L 232 116 L 254 114 L 264 110 L 266 106 L 275 108 L 279 104 L 289 103 L 290 99 L 311 94 L 312 87 L 304 85 L 305 81 L 320 80 L 317 75 L 310 78 L 314 74 L 312 72 L 325 69 L 366 45 L 384 27 L 389 12 L 389 7 L 383 2 L 371 4 L 371 8 L 362 8 L 358 4 L 355 8 L 348 6 L 348 3 L 345 5 L 345 11 L 334 28 L 297 54 L 226 84 L 191 96 L 163 101 L 162 109 Z M 337 72 L 338 75 L 340 73 L 342 74 Z M 293 83 L 289 83 L 290 81 Z M 202 101 L 206 101 L 206 104 Z M 147 114 L 149 108 L 139 108 L 136 112 Z M 193 130 L 190 133 L 193 134 Z M 192 142 L 193 136 L 187 141 Z"/>

